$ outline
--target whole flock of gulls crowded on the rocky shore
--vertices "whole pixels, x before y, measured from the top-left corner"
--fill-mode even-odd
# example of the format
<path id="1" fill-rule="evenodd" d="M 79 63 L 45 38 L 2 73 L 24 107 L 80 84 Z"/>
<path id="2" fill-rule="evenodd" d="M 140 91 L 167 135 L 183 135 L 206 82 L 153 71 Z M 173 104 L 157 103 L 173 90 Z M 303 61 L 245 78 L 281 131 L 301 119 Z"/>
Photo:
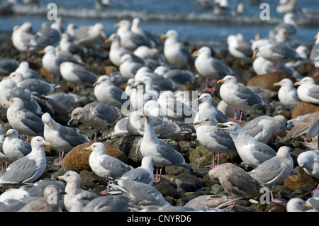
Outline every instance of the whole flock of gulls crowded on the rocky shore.
<path id="1" fill-rule="evenodd" d="M 108 181 L 106 191 L 99 196 L 80 188 L 79 174 L 67 171 L 59 176 L 67 183 L 64 188 L 58 187 L 57 183 L 43 186 L 44 198 L 38 197 L 28 203 L 23 203 L 23 198 L 16 198 L 14 208 L 23 206 L 20 211 L 62 211 L 62 208 L 69 212 L 127 211 L 145 205 L 148 210 L 169 210 L 172 205 L 152 187 L 152 183 L 161 181 L 165 166 L 192 167 L 177 149 L 160 140 L 176 134 L 196 134 L 198 142 L 213 153 L 213 162 L 206 168 L 210 170 L 210 178 L 219 181 L 228 196 L 252 195 L 262 187 L 271 189 L 293 174 L 290 147 L 275 150 L 268 145 L 276 132 L 287 131 L 288 121 L 284 116 L 262 115 L 245 122 L 245 111 L 257 107 L 270 108 L 271 105 L 241 84 L 240 74 L 223 60 L 213 57 L 211 47 L 202 46 L 191 52 L 181 43 L 176 30 L 167 30 L 167 33 L 155 37 L 142 30 L 139 23 L 138 18 L 134 18 L 132 23 L 119 21 L 114 25 L 117 32 L 108 38 L 101 23 L 79 28 L 69 24 L 64 30 L 62 21 L 57 20 L 51 26 L 44 24 L 36 33 L 28 22 L 13 28 L 13 46 L 26 52 L 27 59 L 18 64 L 14 62 L 14 69 L 12 65 L 6 67 L 2 64 L 2 59 L 0 62 L 1 70 L 8 74 L 0 81 L 0 96 L 9 123 L 6 125 L 9 130 L 1 137 L 3 170 L 0 171 L 0 184 L 26 183 L 35 187 L 35 183 L 45 183 L 38 181 L 47 166 L 44 146 L 50 146 L 59 153 L 55 166 L 61 166 L 65 153 L 86 142 L 91 142 L 84 151 L 91 152 L 89 165 L 92 171 Z M 307 60 L 318 69 L 318 51 L 305 59 L 304 48 L 298 52 L 283 38 L 292 37 L 296 32 L 298 28 L 293 22 L 293 14 L 287 13 L 284 25 L 274 28 L 267 38 L 247 42 L 240 34 L 230 35 L 227 40 L 229 53 L 242 65 L 252 58 L 254 61 L 262 59 L 262 64 L 269 62 L 271 66 L 267 73 L 278 72 L 282 67 L 289 67 L 294 72 Z M 108 58 L 117 68 L 113 74 L 96 74 L 86 67 L 85 58 L 96 50 L 96 45 L 109 45 Z M 314 43 L 313 50 L 317 45 Z M 40 55 L 42 67 L 52 74 L 51 82 L 42 79 L 29 67 L 29 62 L 38 53 L 44 54 Z M 298 64 L 293 64 L 296 62 Z M 260 69 L 262 66 L 256 67 Z M 127 83 L 125 89 L 113 82 L 113 76 Z M 295 83 L 283 79 L 274 84 L 280 86 L 278 98 L 284 108 L 292 111 L 301 101 L 319 104 L 319 86 L 313 77 L 296 77 L 298 81 Z M 179 91 L 198 78 L 205 79 L 200 95 L 196 93 L 194 97 L 187 90 Z M 72 95 L 61 94 L 58 98 L 52 94 L 59 90 L 61 81 L 72 84 Z M 89 89 L 94 100 L 70 111 L 76 103 L 81 103 L 82 89 Z M 220 107 L 213 106 L 214 96 L 221 98 Z M 225 107 L 222 108 L 222 104 Z M 56 106 L 64 108 L 61 114 L 64 117 L 57 113 Z M 285 139 L 305 135 L 308 130 L 311 137 L 316 137 L 318 125 L 311 126 L 316 125 L 315 122 L 318 124 L 318 114 L 312 115 L 311 119 L 297 124 L 293 129 L 305 125 L 303 130 L 288 134 Z M 93 128 L 94 137 L 74 129 L 71 126 L 74 122 Z M 102 137 L 100 131 L 108 125 L 114 125 L 113 131 Z M 30 142 L 23 140 L 22 135 L 30 137 Z M 142 138 L 141 166 L 134 169 L 105 153 L 101 140 L 121 135 Z M 220 154 L 231 152 L 239 154 L 242 159 L 240 166 L 220 163 Z M 318 146 L 298 157 L 298 165 L 317 179 L 318 164 Z M 225 175 L 226 171 L 233 173 Z M 60 204 L 43 203 L 50 189 L 55 189 L 59 200 L 64 197 L 58 202 Z M 21 192 L 23 186 L 17 190 Z M 108 196 L 112 193 L 121 195 Z M 272 197 L 272 201 L 278 200 Z M 98 205 L 101 207 L 99 210 Z M 184 210 L 199 209 L 185 207 Z"/>

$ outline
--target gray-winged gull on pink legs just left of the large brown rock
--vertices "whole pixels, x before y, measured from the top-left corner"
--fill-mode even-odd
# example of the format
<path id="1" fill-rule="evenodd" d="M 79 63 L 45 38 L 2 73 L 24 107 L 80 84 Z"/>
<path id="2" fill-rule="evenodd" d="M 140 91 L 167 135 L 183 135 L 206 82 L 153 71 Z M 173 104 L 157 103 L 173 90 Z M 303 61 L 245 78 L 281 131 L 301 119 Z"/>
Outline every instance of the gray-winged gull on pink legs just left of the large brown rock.
<path id="1" fill-rule="evenodd" d="M 80 134 L 73 128 L 57 123 L 49 113 L 44 113 L 41 117 L 43 121 L 43 136 L 51 143 L 52 149 L 59 152 L 59 162 L 55 166 L 60 166 L 63 155 L 73 147 L 89 142 L 86 135 Z"/>

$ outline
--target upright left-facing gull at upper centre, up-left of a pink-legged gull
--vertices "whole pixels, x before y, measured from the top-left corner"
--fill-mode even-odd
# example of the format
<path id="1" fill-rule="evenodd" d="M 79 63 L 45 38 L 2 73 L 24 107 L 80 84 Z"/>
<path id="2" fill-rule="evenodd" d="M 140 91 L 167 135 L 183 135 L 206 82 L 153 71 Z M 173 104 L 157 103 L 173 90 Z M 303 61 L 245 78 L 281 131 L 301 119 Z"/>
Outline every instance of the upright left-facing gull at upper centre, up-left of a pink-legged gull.
<path id="1" fill-rule="evenodd" d="M 176 30 L 167 30 L 167 33 L 161 35 L 161 38 L 166 39 L 163 51 L 164 57 L 169 64 L 173 64 L 180 69 L 191 67 L 194 64 L 191 52 L 179 42 L 179 34 Z"/>

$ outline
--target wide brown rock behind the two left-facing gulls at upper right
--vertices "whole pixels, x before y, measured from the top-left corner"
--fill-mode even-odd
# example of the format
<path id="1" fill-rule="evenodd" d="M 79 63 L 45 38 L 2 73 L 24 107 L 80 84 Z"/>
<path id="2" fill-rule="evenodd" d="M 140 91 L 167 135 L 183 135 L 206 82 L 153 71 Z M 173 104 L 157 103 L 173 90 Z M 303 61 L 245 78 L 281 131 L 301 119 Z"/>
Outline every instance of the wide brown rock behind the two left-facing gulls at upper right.
<path id="1" fill-rule="evenodd" d="M 296 81 L 296 79 L 294 79 L 290 74 L 284 72 L 275 72 L 254 76 L 247 81 L 246 86 L 259 86 L 270 91 L 279 91 L 280 87 L 274 86 L 274 83 L 285 78 L 291 79 L 293 82 Z"/>

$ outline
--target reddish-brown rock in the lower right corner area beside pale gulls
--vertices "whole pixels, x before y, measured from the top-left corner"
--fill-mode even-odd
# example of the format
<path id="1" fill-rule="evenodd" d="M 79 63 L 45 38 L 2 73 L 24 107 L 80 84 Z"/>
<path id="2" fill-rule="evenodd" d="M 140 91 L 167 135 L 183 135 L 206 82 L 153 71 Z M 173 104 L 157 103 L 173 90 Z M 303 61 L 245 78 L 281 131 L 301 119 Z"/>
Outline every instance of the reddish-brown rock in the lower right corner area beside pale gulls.
<path id="1" fill-rule="evenodd" d="M 298 187 L 306 187 L 309 188 L 311 191 L 315 189 L 315 181 L 313 181 L 313 177 L 308 175 L 303 168 L 297 166 L 293 169 L 298 173 L 298 175 L 289 175 L 284 180 L 284 185 L 289 187 L 291 191 L 294 191 Z"/>

